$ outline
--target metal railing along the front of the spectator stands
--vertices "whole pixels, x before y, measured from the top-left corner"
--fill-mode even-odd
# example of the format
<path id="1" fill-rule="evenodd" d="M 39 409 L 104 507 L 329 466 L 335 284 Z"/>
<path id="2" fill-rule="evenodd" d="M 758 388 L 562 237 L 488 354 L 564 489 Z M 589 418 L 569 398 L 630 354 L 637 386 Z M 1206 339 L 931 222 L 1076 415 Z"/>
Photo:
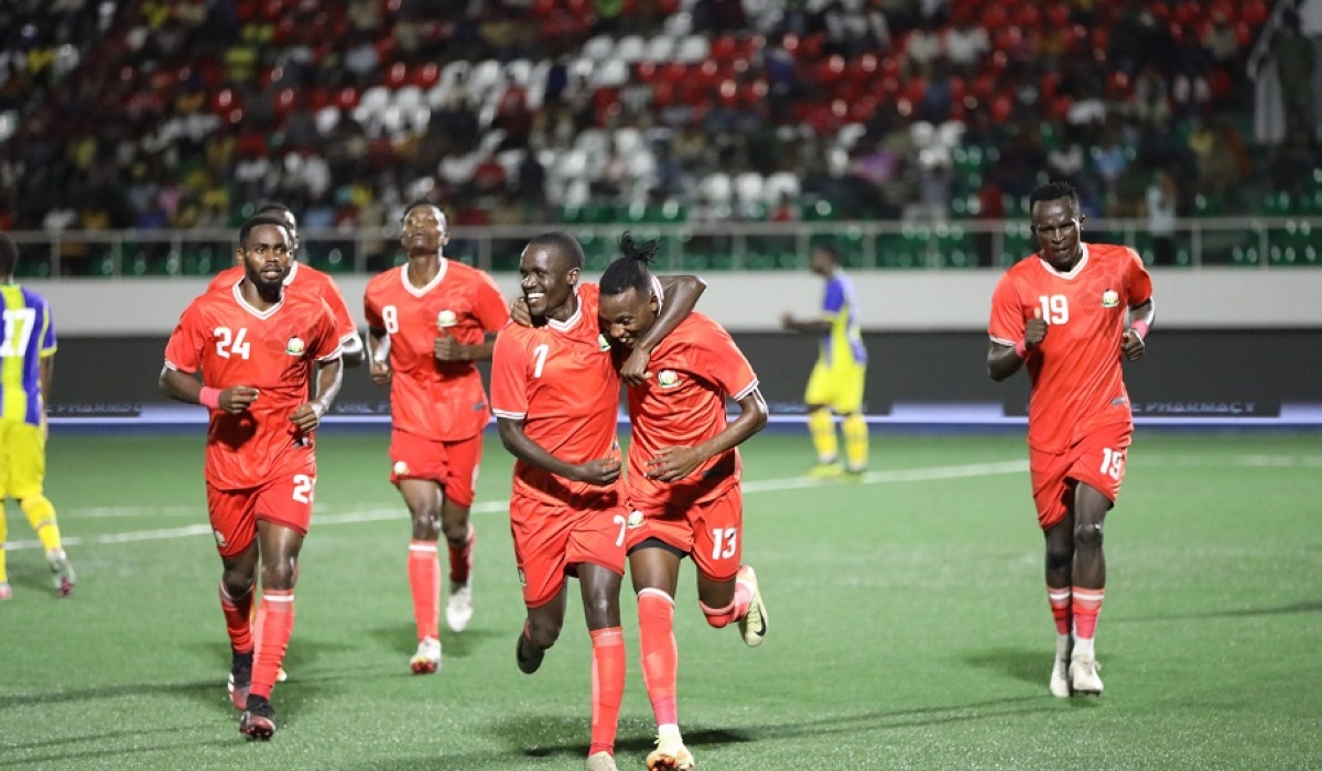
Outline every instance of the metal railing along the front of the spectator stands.
<path id="1" fill-rule="evenodd" d="M 546 230 L 575 235 L 587 270 L 617 257 L 625 230 L 661 239 L 661 270 L 801 270 L 810 249 L 832 243 L 861 270 L 1003 268 L 1034 251 L 1026 220 L 813 222 L 594 222 L 453 227 L 446 254 L 492 272 L 514 272 L 529 238 Z M 1167 264 L 1288 268 L 1322 266 L 1322 217 L 1200 217 L 1177 221 Z M 11 231 L 22 249 L 20 276 L 200 276 L 234 263 L 237 229 Z M 303 259 L 329 272 L 364 274 L 401 264 L 397 225 L 300 233 Z M 1146 220 L 1089 220 L 1085 239 L 1124 243 L 1153 263 Z"/>

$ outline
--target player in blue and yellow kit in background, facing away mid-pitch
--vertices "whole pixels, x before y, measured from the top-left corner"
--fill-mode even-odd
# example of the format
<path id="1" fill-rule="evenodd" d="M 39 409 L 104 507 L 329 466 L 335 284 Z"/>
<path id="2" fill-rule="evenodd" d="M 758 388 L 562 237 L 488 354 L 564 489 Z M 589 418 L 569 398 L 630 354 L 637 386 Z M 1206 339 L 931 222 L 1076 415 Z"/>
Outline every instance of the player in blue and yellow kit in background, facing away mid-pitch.
<path id="1" fill-rule="evenodd" d="M 832 477 L 843 472 L 867 469 L 867 419 L 863 418 L 863 382 L 867 374 L 867 349 L 863 346 L 858 321 L 858 298 L 854 283 L 839 267 L 834 246 L 814 246 L 809 268 L 826 279 L 822 315 L 818 319 L 796 319 L 785 312 L 780 323 L 785 329 L 821 337 L 817 364 L 808 377 L 804 401 L 808 403 L 808 432 L 817 450 L 817 466 L 810 476 Z M 836 415 L 842 415 L 845 468 L 838 463 Z"/>

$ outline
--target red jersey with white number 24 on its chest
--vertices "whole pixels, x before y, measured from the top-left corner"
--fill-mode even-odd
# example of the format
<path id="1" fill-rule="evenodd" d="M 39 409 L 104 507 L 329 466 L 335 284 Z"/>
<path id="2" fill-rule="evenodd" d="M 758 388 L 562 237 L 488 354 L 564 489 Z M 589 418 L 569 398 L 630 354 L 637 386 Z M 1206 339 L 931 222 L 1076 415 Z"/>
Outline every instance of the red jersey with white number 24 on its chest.
<path id="1" fill-rule="evenodd" d="M 266 311 L 247 304 L 238 287 L 194 299 L 165 345 L 165 366 L 201 370 L 209 387 L 260 391 L 238 415 L 210 410 L 206 481 L 246 489 L 270 481 L 286 464 L 305 463 L 312 442 L 290 414 L 307 402 L 316 362 L 338 356 L 334 317 L 319 298 L 292 292 Z"/>

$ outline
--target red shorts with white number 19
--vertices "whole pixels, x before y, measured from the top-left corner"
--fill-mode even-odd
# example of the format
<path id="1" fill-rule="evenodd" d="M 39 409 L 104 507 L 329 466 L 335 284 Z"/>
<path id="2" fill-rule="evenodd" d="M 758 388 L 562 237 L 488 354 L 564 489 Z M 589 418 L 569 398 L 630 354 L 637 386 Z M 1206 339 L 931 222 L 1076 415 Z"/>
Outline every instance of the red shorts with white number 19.
<path id="1" fill-rule="evenodd" d="M 1069 513 L 1073 483 L 1081 481 L 1116 503 L 1120 484 L 1125 480 L 1125 456 L 1133 435 L 1132 423 L 1112 423 L 1099 426 L 1064 452 L 1029 450 L 1032 501 L 1038 505 L 1038 524 L 1043 530 Z"/>

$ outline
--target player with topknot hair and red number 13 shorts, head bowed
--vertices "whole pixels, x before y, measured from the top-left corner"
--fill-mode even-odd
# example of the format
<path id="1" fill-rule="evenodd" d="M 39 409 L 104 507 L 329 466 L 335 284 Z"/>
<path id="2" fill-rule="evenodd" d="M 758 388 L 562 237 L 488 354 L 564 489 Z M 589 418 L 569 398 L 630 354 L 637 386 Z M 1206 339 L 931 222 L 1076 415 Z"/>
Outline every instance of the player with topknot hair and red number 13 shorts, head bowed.
<path id="1" fill-rule="evenodd" d="M 664 307 L 648 263 L 657 242 L 635 247 L 625 234 L 624 257 L 600 282 L 602 328 L 621 352 L 652 331 Z M 629 386 L 629 444 L 625 529 L 629 574 L 639 599 L 642 680 L 657 721 L 649 771 L 693 768 L 677 709 L 674 592 L 680 561 L 698 570 L 698 606 L 707 623 L 738 622 L 743 640 L 760 645 L 767 608 L 758 575 L 743 553 L 742 462 L 736 447 L 767 425 L 758 376 L 730 335 L 701 313 L 685 317 L 652 350 L 656 377 Z M 739 417 L 726 419 L 726 398 Z"/>

